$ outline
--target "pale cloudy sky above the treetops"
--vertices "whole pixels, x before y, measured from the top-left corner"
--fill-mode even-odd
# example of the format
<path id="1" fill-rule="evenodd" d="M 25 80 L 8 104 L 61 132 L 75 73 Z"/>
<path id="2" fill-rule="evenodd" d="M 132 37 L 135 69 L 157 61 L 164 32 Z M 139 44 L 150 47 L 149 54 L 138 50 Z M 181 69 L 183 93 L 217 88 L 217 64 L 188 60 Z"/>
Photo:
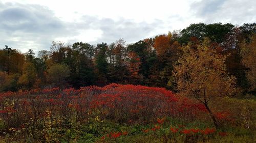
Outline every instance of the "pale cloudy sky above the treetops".
<path id="1" fill-rule="evenodd" d="M 73 44 L 122 38 L 126 44 L 191 23 L 256 22 L 255 0 L 0 0 L 0 48 L 50 50 L 52 41 Z"/>

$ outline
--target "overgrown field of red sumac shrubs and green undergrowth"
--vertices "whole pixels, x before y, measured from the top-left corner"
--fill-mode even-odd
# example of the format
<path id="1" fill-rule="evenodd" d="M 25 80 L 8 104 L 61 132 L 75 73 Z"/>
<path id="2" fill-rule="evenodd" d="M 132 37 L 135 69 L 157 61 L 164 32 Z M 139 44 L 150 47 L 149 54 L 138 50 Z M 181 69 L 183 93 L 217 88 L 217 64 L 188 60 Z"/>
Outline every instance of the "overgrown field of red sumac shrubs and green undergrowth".
<path id="1" fill-rule="evenodd" d="M 163 88 L 109 84 L 0 95 L 1 142 L 255 142 L 254 99 L 205 106 Z"/>

